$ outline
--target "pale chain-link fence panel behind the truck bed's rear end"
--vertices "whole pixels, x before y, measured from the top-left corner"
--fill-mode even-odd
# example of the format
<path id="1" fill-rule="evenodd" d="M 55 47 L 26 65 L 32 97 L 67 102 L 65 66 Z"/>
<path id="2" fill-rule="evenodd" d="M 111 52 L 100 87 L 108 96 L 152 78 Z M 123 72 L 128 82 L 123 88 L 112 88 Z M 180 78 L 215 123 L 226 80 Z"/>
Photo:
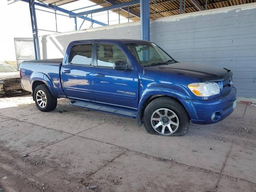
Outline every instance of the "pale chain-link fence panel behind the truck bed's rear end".
<path id="1" fill-rule="evenodd" d="M 34 42 L 33 38 L 14 38 L 17 68 L 20 67 L 22 61 L 34 60 Z"/>

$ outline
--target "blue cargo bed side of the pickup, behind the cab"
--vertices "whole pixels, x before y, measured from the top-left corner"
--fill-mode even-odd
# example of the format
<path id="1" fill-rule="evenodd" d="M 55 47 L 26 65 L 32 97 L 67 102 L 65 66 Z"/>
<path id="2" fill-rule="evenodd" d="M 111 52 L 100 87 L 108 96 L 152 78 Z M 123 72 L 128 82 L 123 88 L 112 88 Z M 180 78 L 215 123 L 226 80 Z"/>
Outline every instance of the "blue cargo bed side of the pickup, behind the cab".
<path id="1" fill-rule="evenodd" d="M 30 60 L 20 64 L 22 86 L 32 92 L 35 81 L 43 81 L 55 97 L 65 97 L 61 86 L 60 70 L 63 58 Z"/>

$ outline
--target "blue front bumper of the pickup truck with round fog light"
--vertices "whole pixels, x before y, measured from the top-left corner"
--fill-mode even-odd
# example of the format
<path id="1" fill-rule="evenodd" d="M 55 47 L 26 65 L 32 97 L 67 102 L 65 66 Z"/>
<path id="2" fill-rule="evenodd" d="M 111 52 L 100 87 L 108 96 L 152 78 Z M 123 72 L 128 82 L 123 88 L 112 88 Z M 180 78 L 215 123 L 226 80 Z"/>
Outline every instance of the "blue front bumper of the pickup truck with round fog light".
<path id="1" fill-rule="evenodd" d="M 228 94 L 209 100 L 180 100 L 186 108 L 192 123 L 212 124 L 220 122 L 234 111 L 236 88 L 232 87 Z M 212 120 L 212 114 L 216 117 Z"/>

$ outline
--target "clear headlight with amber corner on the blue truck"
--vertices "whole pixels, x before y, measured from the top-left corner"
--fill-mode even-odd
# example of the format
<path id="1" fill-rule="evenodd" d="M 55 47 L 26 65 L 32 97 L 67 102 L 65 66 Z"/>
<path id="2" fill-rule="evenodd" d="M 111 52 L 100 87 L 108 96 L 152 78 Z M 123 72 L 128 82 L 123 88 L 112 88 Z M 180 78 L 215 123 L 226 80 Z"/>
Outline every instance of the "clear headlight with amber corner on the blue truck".
<path id="1" fill-rule="evenodd" d="M 191 83 L 188 88 L 192 93 L 200 97 L 208 97 L 220 93 L 217 83 Z"/>

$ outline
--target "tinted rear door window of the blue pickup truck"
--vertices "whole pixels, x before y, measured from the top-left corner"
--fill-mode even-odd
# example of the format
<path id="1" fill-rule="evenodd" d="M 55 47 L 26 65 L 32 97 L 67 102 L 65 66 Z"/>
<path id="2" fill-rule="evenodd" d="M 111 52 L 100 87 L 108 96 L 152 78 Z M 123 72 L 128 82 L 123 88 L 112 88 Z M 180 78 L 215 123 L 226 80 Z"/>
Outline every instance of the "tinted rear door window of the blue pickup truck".
<path id="1" fill-rule="evenodd" d="M 71 64 L 92 65 L 92 44 L 73 46 L 68 61 Z"/>

